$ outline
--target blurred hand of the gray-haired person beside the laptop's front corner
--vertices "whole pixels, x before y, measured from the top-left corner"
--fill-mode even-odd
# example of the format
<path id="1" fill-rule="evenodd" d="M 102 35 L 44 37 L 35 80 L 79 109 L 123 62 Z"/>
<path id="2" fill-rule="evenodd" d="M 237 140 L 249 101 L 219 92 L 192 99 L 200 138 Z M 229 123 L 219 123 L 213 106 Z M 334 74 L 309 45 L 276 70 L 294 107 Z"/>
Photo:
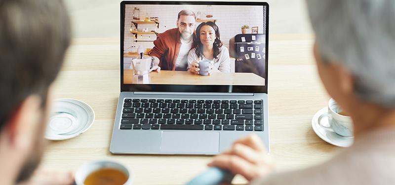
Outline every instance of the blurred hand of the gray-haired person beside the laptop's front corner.
<path id="1" fill-rule="evenodd" d="M 274 170 L 273 160 L 257 135 L 237 140 L 230 150 L 215 156 L 208 166 L 230 170 L 248 181 L 266 176 Z"/>

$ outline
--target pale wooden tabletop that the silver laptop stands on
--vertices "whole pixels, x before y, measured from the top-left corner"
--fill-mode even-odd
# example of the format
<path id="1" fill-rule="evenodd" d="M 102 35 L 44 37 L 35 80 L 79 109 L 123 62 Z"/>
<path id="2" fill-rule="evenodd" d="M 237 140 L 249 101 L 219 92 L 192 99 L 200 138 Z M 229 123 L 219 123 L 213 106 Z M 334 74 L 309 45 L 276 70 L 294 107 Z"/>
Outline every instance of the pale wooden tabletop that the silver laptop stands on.
<path id="1" fill-rule="evenodd" d="M 272 35 L 269 41 L 269 127 L 277 171 L 327 160 L 340 148 L 318 138 L 311 127 L 329 99 L 312 55 L 311 35 Z M 135 185 L 183 185 L 203 172 L 212 156 L 113 155 L 109 151 L 119 95 L 119 39 L 72 42 L 54 84 L 55 98 L 74 98 L 95 111 L 92 127 L 76 138 L 49 142 L 43 166 L 77 170 L 88 161 L 118 160 L 135 172 Z M 247 181 L 237 176 L 233 183 Z"/>

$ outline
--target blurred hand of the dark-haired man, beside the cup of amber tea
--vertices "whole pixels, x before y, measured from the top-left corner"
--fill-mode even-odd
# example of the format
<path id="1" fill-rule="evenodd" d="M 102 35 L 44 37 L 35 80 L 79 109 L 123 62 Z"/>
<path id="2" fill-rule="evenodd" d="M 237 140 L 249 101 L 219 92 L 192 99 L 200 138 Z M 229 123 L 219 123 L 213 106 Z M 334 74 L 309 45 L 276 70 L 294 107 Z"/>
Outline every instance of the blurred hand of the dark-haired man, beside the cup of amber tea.
<path id="1" fill-rule="evenodd" d="M 74 174 L 72 172 L 57 172 L 38 168 L 32 177 L 18 185 L 73 185 Z"/>

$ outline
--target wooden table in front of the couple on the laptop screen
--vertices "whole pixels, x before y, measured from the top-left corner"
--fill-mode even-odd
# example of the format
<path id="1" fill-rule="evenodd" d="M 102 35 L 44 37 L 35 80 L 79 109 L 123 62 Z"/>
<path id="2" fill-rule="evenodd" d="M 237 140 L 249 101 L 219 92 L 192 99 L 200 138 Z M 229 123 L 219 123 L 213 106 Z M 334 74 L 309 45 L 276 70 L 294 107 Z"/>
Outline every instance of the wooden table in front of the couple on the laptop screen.
<path id="1" fill-rule="evenodd" d="M 133 70 L 123 70 L 123 82 L 132 83 Z M 150 73 L 151 84 L 178 85 L 263 85 L 265 78 L 253 73 L 213 73 L 209 76 L 181 71 Z"/>

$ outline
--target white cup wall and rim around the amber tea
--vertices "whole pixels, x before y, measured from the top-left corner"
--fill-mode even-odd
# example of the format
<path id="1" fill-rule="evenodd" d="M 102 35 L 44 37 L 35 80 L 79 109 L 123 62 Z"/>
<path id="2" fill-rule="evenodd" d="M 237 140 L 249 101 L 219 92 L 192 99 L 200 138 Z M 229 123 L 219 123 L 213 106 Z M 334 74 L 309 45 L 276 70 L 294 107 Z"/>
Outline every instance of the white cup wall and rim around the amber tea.
<path id="1" fill-rule="evenodd" d="M 75 176 L 75 184 L 84 185 L 85 179 L 90 174 L 103 168 L 114 168 L 123 172 L 127 176 L 127 181 L 123 185 L 132 185 L 134 182 L 134 172 L 130 168 L 116 161 L 98 160 L 98 161 L 85 163 L 79 167 Z"/>

